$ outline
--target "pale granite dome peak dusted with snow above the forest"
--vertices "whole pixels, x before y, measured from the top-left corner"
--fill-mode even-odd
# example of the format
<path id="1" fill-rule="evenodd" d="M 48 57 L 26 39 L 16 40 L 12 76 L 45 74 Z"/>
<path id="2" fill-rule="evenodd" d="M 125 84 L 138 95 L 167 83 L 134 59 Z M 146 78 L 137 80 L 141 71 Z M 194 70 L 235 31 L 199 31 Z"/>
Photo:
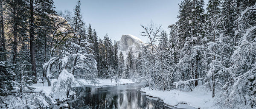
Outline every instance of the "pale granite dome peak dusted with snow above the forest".
<path id="1" fill-rule="evenodd" d="M 128 50 L 139 50 L 140 45 L 143 43 L 139 38 L 131 34 L 122 35 L 120 41 L 117 42 L 119 45 L 119 50 L 128 51 Z"/>

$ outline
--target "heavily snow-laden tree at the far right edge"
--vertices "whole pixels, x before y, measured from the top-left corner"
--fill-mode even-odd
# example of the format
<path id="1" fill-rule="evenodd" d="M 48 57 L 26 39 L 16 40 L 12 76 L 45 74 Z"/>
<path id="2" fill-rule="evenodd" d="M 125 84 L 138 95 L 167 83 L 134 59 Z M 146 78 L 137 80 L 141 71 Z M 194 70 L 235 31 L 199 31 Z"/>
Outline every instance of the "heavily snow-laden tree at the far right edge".
<path id="1" fill-rule="evenodd" d="M 256 107 L 256 4 L 247 7 L 237 19 L 235 35 L 239 36 L 238 46 L 231 56 L 229 68 L 231 80 L 223 86 L 226 89 L 224 101 L 228 106 L 236 107 L 239 103 Z"/>

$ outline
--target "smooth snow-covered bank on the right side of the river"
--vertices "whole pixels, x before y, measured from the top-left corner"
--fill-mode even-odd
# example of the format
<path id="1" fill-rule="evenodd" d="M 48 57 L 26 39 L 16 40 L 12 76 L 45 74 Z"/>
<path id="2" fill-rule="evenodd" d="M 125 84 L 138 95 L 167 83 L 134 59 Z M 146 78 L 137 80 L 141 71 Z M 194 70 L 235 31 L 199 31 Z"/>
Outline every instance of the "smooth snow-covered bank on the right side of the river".
<path id="1" fill-rule="evenodd" d="M 146 92 L 146 95 L 160 98 L 164 103 L 171 106 L 179 107 L 179 103 L 186 103 L 189 106 L 200 109 L 215 109 L 214 99 L 212 98 L 212 92 L 206 91 L 204 87 L 198 86 L 192 92 L 182 92 L 178 90 L 171 91 L 158 91 L 149 90 L 149 88 L 142 88 L 142 92 Z M 182 105 L 184 106 L 184 105 Z M 184 107 L 183 107 L 184 108 Z"/>

